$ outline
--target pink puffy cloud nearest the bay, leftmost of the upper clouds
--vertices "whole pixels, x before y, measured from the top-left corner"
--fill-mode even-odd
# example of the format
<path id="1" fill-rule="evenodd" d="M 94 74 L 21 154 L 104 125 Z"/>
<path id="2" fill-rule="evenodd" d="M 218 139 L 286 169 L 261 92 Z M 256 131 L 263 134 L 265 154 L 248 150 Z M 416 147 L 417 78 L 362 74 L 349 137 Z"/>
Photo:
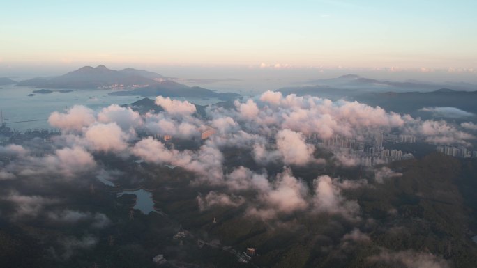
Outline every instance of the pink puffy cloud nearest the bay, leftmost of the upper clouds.
<path id="1" fill-rule="evenodd" d="M 66 113 L 54 111 L 48 118 L 48 123 L 52 127 L 58 127 L 66 132 L 80 131 L 94 122 L 96 122 L 96 118 L 93 110 L 82 105 L 75 105 Z"/>

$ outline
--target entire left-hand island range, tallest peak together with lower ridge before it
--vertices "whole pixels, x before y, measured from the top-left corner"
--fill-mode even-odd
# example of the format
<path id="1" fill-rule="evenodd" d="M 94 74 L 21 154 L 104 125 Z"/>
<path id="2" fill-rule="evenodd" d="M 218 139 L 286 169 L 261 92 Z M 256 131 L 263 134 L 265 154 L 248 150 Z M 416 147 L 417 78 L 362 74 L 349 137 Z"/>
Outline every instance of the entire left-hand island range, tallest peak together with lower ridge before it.
<path id="1" fill-rule="evenodd" d="M 108 69 L 105 65 L 98 65 L 96 68 L 84 66 L 59 77 L 24 80 L 18 82 L 17 86 L 74 89 L 109 88 L 121 90 L 110 93 L 110 95 L 140 95 L 143 97 L 162 95 L 164 97 L 215 97 L 220 100 L 230 100 L 240 96 L 236 93 L 216 93 L 206 88 L 185 86 L 167 80 L 155 72 L 133 68 L 118 71 Z"/>

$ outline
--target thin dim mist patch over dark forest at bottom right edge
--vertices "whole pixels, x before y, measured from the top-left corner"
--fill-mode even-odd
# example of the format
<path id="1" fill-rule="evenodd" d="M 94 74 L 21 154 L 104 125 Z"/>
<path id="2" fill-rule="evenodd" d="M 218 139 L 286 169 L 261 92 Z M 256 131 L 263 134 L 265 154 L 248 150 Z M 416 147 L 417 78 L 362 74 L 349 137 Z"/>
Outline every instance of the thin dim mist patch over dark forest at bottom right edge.
<path id="1" fill-rule="evenodd" d="M 415 251 L 388 251 L 383 249 L 379 255 L 368 258 L 369 262 L 406 268 L 449 268 L 449 263 L 431 253 Z"/>

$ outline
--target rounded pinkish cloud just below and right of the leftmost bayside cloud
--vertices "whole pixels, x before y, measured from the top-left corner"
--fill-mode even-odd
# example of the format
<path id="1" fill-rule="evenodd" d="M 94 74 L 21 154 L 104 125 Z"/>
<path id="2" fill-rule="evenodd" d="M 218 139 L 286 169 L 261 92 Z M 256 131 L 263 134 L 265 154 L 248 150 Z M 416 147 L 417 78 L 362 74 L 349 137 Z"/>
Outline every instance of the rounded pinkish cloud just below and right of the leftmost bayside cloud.
<path id="1" fill-rule="evenodd" d="M 120 152 L 128 147 L 128 136 L 116 123 L 91 125 L 84 132 L 84 136 L 93 150 L 103 152 Z"/>

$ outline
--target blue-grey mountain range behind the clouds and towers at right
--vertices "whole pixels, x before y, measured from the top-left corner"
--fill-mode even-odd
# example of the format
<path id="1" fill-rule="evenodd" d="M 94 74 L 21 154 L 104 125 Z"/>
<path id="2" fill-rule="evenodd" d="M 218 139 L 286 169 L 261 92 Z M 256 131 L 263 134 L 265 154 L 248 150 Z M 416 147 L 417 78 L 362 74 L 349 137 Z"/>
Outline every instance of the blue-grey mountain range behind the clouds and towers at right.
<path id="1" fill-rule="evenodd" d="M 313 81 L 317 86 L 280 88 L 284 95 L 312 95 L 331 100 L 345 99 L 379 106 L 386 111 L 428 117 L 426 107 L 453 107 L 477 114 L 477 86 L 467 83 L 432 84 L 421 81 L 379 81 L 347 74 L 333 79 Z M 445 113 L 442 115 L 445 117 Z"/>

